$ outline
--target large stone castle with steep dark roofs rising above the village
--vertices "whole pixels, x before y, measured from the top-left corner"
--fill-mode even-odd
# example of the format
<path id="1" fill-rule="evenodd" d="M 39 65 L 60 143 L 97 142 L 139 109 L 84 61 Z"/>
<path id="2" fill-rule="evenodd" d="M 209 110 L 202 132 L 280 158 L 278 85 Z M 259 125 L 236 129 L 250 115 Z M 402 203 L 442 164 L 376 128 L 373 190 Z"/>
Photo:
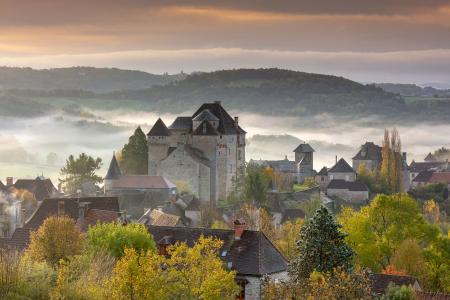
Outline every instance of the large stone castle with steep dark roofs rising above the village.
<path id="1" fill-rule="evenodd" d="M 148 175 L 185 182 L 202 202 L 217 203 L 244 167 L 245 134 L 218 101 L 169 127 L 158 119 L 147 134 Z"/>

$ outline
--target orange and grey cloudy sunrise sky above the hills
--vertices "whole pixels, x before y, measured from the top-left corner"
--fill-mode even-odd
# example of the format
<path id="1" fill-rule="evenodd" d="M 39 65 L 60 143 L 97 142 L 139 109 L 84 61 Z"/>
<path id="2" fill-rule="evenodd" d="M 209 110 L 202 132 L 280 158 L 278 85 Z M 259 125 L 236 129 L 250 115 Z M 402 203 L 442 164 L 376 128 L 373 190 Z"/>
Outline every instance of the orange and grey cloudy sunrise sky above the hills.
<path id="1" fill-rule="evenodd" d="M 281 67 L 450 87 L 450 0 L 0 0 L 0 65 Z"/>

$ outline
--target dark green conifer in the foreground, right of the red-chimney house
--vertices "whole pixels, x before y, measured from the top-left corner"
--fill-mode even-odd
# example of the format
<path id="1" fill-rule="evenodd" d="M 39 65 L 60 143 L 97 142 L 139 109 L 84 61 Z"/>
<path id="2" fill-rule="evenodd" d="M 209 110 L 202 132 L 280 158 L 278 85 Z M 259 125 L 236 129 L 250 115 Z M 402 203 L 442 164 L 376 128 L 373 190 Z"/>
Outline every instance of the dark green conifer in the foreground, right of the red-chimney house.
<path id="1" fill-rule="evenodd" d="M 332 272 L 336 268 L 350 271 L 353 250 L 345 243 L 341 225 L 322 206 L 300 230 L 297 241 L 299 255 L 289 264 L 291 279 L 301 282 L 313 271 Z"/>

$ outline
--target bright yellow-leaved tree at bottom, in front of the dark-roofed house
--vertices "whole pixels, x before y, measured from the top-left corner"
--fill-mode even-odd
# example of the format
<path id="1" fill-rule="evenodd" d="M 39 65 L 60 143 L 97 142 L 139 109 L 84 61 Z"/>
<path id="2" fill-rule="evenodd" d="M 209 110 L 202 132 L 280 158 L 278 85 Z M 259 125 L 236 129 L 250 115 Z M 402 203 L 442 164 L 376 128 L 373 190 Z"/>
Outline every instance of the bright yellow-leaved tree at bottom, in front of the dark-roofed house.
<path id="1" fill-rule="evenodd" d="M 111 278 L 113 299 L 234 299 L 236 273 L 218 257 L 223 242 L 200 237 L 170 246 L 167 257 L 127 249 Z"/>

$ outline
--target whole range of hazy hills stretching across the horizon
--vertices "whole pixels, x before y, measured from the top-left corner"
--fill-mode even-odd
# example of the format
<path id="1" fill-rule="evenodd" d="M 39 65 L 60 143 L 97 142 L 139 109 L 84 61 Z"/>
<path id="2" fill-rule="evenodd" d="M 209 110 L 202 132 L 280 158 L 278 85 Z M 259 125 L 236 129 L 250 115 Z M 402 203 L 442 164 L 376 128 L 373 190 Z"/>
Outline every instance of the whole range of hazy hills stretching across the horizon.
<path id="1" fill-rule="evenodd" d="M 55 109 L 74 113 L 80 108 L 183 113 L 211 101 L 222 101 L 230 110 L 293 116 L 317 126 L 326 126 L 321 123 L 324 118 L 311 119 L 318 115 L 366 123 L 441 122 L 448 121 L 450 115 L 446 98 L 411 100 L 400 95 L 395 85 L 383 85 L 384 89 L 391 87 L 386 91 L 343 77 L 282 69 L 170 76 L 84 67 L 39 71 L 3 68 L 0 83 L 9 88 L 0 90 L 0 115 L 41 115 Z M 414 86 L 405 88 L 416 90 Z"/>

